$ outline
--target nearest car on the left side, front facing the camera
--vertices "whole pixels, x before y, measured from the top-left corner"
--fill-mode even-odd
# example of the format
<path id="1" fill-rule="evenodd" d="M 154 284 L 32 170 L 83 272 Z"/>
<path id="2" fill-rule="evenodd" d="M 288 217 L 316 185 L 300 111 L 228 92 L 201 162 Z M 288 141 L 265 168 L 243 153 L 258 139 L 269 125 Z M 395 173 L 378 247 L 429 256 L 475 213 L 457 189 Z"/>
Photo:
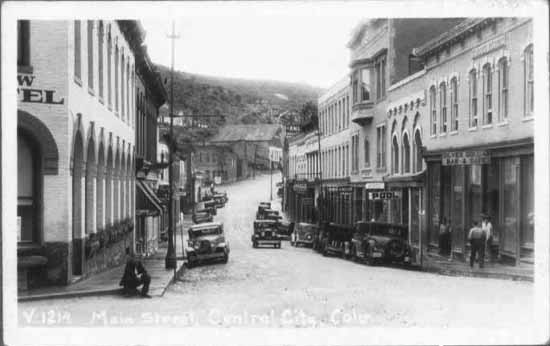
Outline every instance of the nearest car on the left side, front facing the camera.
<path id="1" fill-rule="evenodd" d="M 193 225 L 188 231 L 187 266 L 219 260 L 227 263 L 229 243 L 225 240 L 223 223 L 209 222 Z"/>

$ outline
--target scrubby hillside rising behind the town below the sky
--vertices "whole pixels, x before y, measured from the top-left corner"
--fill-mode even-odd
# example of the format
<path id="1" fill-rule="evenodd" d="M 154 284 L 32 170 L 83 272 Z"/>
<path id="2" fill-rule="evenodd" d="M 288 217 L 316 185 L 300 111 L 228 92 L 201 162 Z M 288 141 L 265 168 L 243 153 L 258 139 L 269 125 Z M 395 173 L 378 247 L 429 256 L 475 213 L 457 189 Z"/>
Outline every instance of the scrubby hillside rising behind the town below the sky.
<path id="1" fill-rule="evenodd" d="M 170 69 L 157 67 L 169 94 Z M 297 111 L 308 101 L 316 103 L 321 92 L 305 84 L 174 72 L 174 112 L 225 115 L 226 124 L 272 124 L 286 110 Z"/>

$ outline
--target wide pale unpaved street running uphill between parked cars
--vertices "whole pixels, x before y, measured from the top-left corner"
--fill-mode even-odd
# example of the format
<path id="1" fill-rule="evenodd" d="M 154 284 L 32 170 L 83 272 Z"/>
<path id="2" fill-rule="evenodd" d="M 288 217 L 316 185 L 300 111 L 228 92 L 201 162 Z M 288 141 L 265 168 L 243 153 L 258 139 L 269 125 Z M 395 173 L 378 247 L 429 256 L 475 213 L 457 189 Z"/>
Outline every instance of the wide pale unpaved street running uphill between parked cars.
<path id="1" fill-rule="evenodd" d="M 532 283 L 369 267 L 288 242 L 281 249 L 253 249 L 252 221 L 258 202 L 268 199 L 269 176 L 220 190 L 227 191 L 229 202 L 215 219 L 225 225 L 229 263 L 186 269 L 162 298 L 19 303 L 20 325 L 521 328 L 533 323 Z"/>

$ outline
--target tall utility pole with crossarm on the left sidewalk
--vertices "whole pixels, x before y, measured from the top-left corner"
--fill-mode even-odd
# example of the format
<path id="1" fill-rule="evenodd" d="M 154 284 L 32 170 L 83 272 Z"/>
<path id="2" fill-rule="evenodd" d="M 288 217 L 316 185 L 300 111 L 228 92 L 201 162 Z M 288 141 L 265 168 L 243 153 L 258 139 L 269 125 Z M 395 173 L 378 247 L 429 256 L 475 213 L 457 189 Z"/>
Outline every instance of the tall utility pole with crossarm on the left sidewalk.
<path id="1" fill-rule="evenodd" d="M 168 205 L 168 250 L 166 251 L 165 268 L 174 269 L 174 277 L 176 276 L 177 259 L 176 250 L 174 248 L 174 60 L 175 60 L 175 40 L 180 36 L 176 35 L 176 23 L 172 21 L 172 34 L 167 35 L 172 41 L 172 62 L 170 67 L 170 145 L 168 147 L 168 180 L 169 180 L 169 205 Z"/>

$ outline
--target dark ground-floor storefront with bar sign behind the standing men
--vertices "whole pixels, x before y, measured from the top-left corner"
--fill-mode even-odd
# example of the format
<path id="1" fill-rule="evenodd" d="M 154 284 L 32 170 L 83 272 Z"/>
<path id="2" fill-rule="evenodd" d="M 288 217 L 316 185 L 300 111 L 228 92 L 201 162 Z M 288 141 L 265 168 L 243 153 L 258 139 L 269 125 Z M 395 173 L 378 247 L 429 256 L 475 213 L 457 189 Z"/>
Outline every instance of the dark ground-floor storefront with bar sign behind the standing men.
<path id="1" fill-rule="evenodd" d="M 493 255 L 532 261 L 534 244 L 534 154 L 522 143 L 427 152 L 428 234 L 438 247 L 439 224 L 452 227 L 451 248 L 465 256 L 468 231 L 481 214 L 493 224 Z"/>

